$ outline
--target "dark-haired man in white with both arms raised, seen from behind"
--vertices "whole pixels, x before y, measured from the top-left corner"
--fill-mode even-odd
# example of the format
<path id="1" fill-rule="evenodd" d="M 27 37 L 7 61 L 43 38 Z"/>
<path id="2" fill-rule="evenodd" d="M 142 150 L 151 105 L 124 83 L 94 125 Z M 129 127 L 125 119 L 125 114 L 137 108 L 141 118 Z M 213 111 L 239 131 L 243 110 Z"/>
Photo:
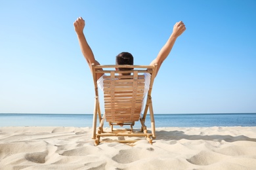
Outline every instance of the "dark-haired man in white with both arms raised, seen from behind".
<path id="1" fill-rule="evenodd" d="M 79 41 L 79 45 L 81 48 L 81 51 L 83 53 L 83 56 L 85 57 L 87 63 L 89 64 L 89 67 L 91 69 L 91 63 L 95 63 L 95 65 L 100 65 L 98 61 L 96 61 L 95 56 L 93 55 L 93 51 L 91 50 L 89 44 L 87 43 L 85 39 L 85 35 L 83 34 L 83 29 L 85 27 L 85 20 L 83 18 L 79 17 L 74 22 L 75 32 L 77 33 L 77 38 Z M 169 37 L 168 41 L 165 43 L 165 45 L 161 48 L 158 56 L 156 59 L 154 59 L 150 65 L 154 65 L 154 63 L 158 64 L 158 70 L 161 67 L 161 64 L 167 58 L 169 53 L 171 52 L 171 49 L 173 48 L 173 44 L 175 43 L 176 39 L 186 30 L 185 25 L 183 22 L 177 22 L 173 26 L 173 33 Z M 116 56 L 116 64 L 118 65 L 133 65 L 133 56 L 129 52 L 121 52 Z M 156 71 L 156 74 L 158 74 L 158 70 Z M 92 71 L 92 69 L 91 69 Z M 103 88 L 103 77 L 102 74 L 96 74 L 96 80 L 98 83 L 98 86 L 102 89 Z M 150 75 L 145 75 L 145 82 L 148 82 L 150 80 Z M 146 84 L 146 83 L 145 83 Z M 148 84 L 149 86 L 149 84 Z M 146 85 L 145 85 L 145 89 Z"/>

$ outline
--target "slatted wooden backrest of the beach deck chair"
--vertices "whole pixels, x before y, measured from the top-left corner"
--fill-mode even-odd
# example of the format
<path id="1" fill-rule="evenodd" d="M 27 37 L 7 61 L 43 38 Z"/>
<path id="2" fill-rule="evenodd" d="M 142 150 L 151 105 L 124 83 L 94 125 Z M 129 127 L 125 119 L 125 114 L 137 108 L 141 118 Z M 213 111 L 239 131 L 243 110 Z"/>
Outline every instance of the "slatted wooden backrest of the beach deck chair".
<path id="1" fill-rule="evenodd" d="M 116 68 L 119 70 L 116 71 Z M 106 121 L 138 121 L 140 112 L 142 112 L 142 104 L 144 100 L 144 74 L 151 74 L 148 91 L 148 95 L 150 95 L 154 76 L 156 75 L 156 66 L 93 65 L 96 95 L 98 95 L 98 87 L 95 80 L 97 73 L 104 73 L 103 92 Z"/>

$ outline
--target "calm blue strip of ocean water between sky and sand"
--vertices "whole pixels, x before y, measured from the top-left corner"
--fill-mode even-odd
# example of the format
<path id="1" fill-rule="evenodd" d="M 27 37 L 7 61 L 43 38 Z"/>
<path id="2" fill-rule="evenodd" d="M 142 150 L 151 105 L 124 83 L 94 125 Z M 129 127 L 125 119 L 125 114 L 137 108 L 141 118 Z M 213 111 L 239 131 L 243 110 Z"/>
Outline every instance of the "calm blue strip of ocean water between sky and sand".
<path id="1" fill-rule="evenodd" d="M 256 126 L 256 113 L 155 114 L 154 118 L 156 127 Z M 92 127 L 93 114 L 0 114 L 0 127 L 5 126 Z M 149 114 L 146 126 L 150 127 Z M 140 122 L 135 123 L 139 127 Z"/>

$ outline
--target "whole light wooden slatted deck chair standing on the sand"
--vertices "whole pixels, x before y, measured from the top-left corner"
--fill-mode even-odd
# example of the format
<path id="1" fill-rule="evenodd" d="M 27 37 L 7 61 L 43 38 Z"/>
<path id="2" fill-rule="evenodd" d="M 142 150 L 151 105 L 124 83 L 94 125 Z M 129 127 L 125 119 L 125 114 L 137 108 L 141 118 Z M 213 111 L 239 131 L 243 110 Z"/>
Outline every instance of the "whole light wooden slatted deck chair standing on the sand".
<path id="1" fill-rule="evenodd" d="M 156 138 L 154 112 L 152 107 L 151 92 L 156 76 L 157 64 L 151 65 L 95 65 L 92 64 L 93 81 L 95 84 L 95 109 L 93 113 L 93 139 L 95 145 L 101 142 L 135 143 L 141 137 L 146 137 L 152 144 Z M 116 71 L 115 68 L 121 68 Z M 104 73 L 104 114 L 100 112 L 98 99 L 98 85 L 96 74 Z M 119 75 L 122 73 L 122 75 Z M 127 74 L 129 73 L 129 74 Z M 142 105 L 144 93 L 144 73 L 150 73 L 150 87 L 144 96 L 145 107 Z M 144 112 L 142 108 L 144 107 Z M 150 110 L 151 133 L 145 126 L 146 114 Z M 143 113 L 142 116 L 140 113 Z M 98 131 L 96 122 L 99 120 Z M 110 124 L 110 130 L 104 131 L 104 122 Z M 135 122 L 140 122 L 141 130 L 134 131 Z M 130 126 L 130 129 L 114 129 L 113 126 Z M 118 137 L 117 140 L 100 140 L 100 137 Z M 124 140 L 124 137 L 135 137 L 136 140 Z M 138 139 L 139 138 L 139 139 Z"/>

